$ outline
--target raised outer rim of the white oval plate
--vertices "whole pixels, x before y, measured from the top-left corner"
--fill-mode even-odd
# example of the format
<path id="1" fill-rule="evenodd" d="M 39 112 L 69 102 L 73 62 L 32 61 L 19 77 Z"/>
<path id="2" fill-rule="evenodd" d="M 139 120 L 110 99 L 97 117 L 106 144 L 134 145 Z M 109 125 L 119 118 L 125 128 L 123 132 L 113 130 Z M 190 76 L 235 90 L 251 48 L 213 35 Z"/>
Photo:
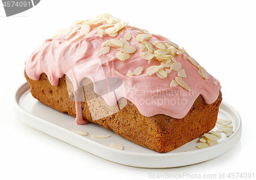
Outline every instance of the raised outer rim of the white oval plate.
<path id="1" fill-rule="evenodd" d="M 170 168 L 170 167 L 179 167 L 179 166 L 197 164 L 210 159 L 214 159 L 222 155 L 223 153 L 227 152 L 234 145 L 238 143 L 242 134 L 242 121 L 239 113 L 232 106 L 227 104 L 227 102 L 222 101 L 220 105 L 220 109 L 224 107 L 230 109 L 238 119 L 238 123 L 237 123 L 236 131 L 234 131 L 234 133 L 229 138 L 227 138 L 226 140 L 214 146 L 210 146 L 203 149 L 192 150 L 192 151 L 175 152 L 175 153 L 159 153 L 159 154 L 121 151 L 118 149 L 105 146 L 98 142 L 92 141 L 90 139 L 83 138 L 82 136 L 75 134 L 64 127 L 60 127 L 56 124 L 53 124 L 52 122 L 44 120 L 24 110 L 22 107 L 19 106 L 19 99 L 29 89 L 30 89 L 29 84 L 25 82 L 25 83 L 22 83 L 21 85 L 18 85 L 16 87 L 16 90 L 14 91 L 14 96 L 12 100 L 13 108 L 14 108 L 16 117 L 19 120 L 23 121 L 27 125 L 32 126 L 33 128 L 36 128 L 41 132 L 44 132 L 64 142 L 67 142 L 67 140 L 65 140 L 65 137 L 67 136 L 76 138 L 77 142 L 67 142 L 67 143 L 75 147 L 78 147 L 84 151 L 87 151 L 89 153 L 92 153 L 93 155 L 98 156 L 100 158 L 103 158 L 118 164 L 126 165 L 126 166 L 142 167 L 142 168 Z M 31 119 L 33 120 L 31 121 Z M 34 119 L 36 119 L 36 121 Z M 38 126 L 38 123 L 41 125 L 41 127 L 39 127 L 40 125 Z M 48 129 L 44 129 L 45 126 L 48 127 Z M 58 133 L 56 133 L 56 131 Z M 91 143 L 91 145 L 94 148 L 92 147 L 90 148 L 90 146 L 84 147 L 81 144 L 79 145 L 81 141 L 83 142 L 86 141 L 87 143 Z M 225 150 L 222 150 L 222 152 L 216 151 L 216 149 L 219 149 L 221 147 Z M 104 150 L 104 153 L 102 153 L 102 150 Z M 190 156 L 195 156 L 198 152 L 200 152 L 200 155 L 202 156 L 202 158 L 199 158 L 197 160 L 190 160 L 186 162 L 180 161 L 180 158 L 186 159 L 186 158 L 189 158 Z M 215 152 L 215 153 L 210 153 L 210 152 Z M 135 162 L 131 161 L 131 159 L 134 159 L 134 158 L 136 158 L 137 161 Z M 166 159 L 168 159 L 168 161 L 166 161 Z M 169 161 L 169 160 L 173 160 L 173 161 Z M 149 161 L 150 163 L 148 163 Z"/>

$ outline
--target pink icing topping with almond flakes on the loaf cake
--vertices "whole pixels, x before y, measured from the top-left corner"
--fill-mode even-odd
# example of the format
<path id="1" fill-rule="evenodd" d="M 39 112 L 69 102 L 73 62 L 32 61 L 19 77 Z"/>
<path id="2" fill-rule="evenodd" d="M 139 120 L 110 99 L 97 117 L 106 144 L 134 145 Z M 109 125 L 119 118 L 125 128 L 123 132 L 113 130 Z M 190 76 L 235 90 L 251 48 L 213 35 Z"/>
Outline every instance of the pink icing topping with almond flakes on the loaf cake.
<path id="1" fill-rule="evenodd" d="M 25 64 L 32 80 L 46 73 L 56 86 L 64 74 L 69 77 L 74 86 L 78 124 L 86 123 L 79 113 L 80 82 L 85 77 L 92 80 L 95 93 L 106 104 L 114 106 L 125 97 L 147 117 L 164 114 L 182 118 L 200 94 L 207 104 L 212 104 L 221 89 L 218 80 L 184 48 L 108 13 L 74 21 L 42 42 Z M 117 79 L 108 82 L 109 78 Z M 97 83 L 102 80 L 109 83 L 109 93 Z"/>

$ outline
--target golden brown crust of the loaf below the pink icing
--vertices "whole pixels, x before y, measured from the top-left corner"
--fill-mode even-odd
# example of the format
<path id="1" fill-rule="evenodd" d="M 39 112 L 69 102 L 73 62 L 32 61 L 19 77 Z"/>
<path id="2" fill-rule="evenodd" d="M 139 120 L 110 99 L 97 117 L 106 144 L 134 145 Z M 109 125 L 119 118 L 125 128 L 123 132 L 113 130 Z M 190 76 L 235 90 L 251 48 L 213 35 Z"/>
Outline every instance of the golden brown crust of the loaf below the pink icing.
<path id="1" fill-rule="evenodd" d="M 75 101 L 71 100 L 72 97 L 69 97 L 68 92 L 73 87 L 67 88 L 66 81 L 69 79 L 66 79 L 66 75 L 59 79 L 58 86 L 52 86 L 45 73 L 41 74 L 38 81 L 34 81 L 27 76 L 25 70 L 25 77 L 30 84 L 34 98 L 57 111 L 76 117 Z M 125 98 L 119 100 L 118 108 L 127 102 L 126 106 L 115 112 L 113 107 L 106 105 L 103 98 L 93 92 L 90 80 L 84 79 L 83 83 L 88 85 L 83 86 L 82 91 L 87 99 L 81 103 L 84 119 L 158 152 L 174 150 L 212 130 L 215 127 L 222 101 L 221 91 L 217 100 L 211 105 L 206 104 L 203 97 L 199 95 L 184 118 L 176 119 L 163 114 L 145 117 L 130 100 Z M 85 92 L 89 93 L 86 95 Z M 90 108 L 88 100 L 93 102 L 90 103 Z M 98 119 L 102 113 L 111 115 Z"/>

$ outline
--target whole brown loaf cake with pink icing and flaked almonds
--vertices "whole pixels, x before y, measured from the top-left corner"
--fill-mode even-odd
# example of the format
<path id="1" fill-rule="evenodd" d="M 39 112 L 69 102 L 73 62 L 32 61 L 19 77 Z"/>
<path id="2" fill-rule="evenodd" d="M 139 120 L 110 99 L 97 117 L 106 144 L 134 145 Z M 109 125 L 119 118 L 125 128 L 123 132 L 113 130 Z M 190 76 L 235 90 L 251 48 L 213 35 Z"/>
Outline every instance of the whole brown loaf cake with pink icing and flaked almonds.
<path id="1" fill-rule="evenodd" d="M 217 121 L 218 80 L 183 47 L 108 13 L 59 30 L 25 64 L 31 94 L 43 104 L 158 152 Z"/>

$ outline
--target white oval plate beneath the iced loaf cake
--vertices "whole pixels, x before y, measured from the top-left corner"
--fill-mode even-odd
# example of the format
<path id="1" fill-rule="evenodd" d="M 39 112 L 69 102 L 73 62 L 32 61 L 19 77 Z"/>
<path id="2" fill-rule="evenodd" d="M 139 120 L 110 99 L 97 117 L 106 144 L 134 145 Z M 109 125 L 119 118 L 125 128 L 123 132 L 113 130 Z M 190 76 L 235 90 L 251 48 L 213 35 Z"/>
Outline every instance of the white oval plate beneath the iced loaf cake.
<path id="1" fill-rule="evenodd" d="M 242 134 L 241 118 L 238 112 L 226 102 L 221 103 L 218 118 L 232 120 L 234 133 L 229 138 L 221 133 L 222 137 L 218 139 L 218 144 L 203 149 L 196 147 L 201 144 L 200 138 L 197 138 L 167 153 L 147 149 L 94 123 L 77 125 L 73 116 L 60 113 L 34 99 L 30 93 L 28 83 L 24 83 L 16 89 L 13 106 L 17 118 L 37 130 L 100 158 L 133 167 L 168 168 L 207 161 L 230 150 L 237 144 Z M 217 129 L 216 126 L 214 130 Z M 81 136 L 70 130 L 86 131 L 89 135 Z M 92 134 L 111 136 L 97 139 L 92 138 Z M 109 147 L 112 142 L 122 144 L 124 150 Z"/>

